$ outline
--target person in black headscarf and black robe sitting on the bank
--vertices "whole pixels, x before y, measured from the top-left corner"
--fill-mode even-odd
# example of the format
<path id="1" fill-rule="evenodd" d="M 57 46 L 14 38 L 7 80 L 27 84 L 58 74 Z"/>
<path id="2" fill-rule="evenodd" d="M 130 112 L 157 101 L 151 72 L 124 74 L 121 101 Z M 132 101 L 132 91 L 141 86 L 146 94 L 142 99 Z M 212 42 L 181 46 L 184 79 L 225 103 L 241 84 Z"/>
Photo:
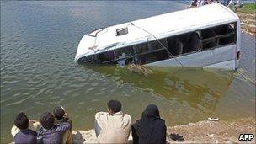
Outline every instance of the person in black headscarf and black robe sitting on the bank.
<path id="1" fill-rule="evenodd" d="M 149 104 L 143 111 L 141 119 L 131 125 L 131 134 L 134 144 L 165 144 L 166 125 L 160 118 L 157 105 Z"/>

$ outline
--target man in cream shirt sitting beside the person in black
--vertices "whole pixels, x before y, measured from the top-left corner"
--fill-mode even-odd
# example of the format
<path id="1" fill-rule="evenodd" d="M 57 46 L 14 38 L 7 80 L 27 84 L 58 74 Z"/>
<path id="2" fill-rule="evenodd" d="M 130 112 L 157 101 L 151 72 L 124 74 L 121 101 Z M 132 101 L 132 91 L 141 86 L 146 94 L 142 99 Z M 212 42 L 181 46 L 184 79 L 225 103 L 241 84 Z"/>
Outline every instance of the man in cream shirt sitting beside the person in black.
<path id="1" fill-rule="evenodd" d="M 121 111 L 118 100 L 110 100 L 108 112 L 95 115 L 95 132 L 99 143 L 128 143 L 131 131 L 131 116 Z"/>

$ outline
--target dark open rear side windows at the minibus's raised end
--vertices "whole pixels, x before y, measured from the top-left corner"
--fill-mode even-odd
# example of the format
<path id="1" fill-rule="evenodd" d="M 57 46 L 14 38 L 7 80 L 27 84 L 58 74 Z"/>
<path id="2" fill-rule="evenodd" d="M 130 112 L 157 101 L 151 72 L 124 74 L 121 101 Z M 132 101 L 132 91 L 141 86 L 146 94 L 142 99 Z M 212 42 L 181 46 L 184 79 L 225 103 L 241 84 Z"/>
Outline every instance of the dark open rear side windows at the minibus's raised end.
<path id="1" fill-rule="evenodd" d="M 179 56 L 193 51 L 216 48 L 219 45 L 233 44 L 236 41 L 235 27 L 235 24 L 224 24 L 168 37 L 168 50 L 172 56 Z"/>

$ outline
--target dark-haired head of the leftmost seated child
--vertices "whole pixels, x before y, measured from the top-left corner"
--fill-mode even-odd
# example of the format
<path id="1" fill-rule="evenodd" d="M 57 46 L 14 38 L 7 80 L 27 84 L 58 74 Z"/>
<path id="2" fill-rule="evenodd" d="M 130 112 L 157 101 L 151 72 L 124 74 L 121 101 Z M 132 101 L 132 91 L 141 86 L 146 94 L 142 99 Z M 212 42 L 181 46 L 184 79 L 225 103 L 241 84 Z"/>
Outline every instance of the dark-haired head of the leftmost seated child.
<path id="1" fill-rule="evenodd" d="M 27 129 L 29 127 L 29 119 L 27 115 L 23 112 L 19 113 L 14 120 L 14 125 L 16 125 L 20 130 Z"/>

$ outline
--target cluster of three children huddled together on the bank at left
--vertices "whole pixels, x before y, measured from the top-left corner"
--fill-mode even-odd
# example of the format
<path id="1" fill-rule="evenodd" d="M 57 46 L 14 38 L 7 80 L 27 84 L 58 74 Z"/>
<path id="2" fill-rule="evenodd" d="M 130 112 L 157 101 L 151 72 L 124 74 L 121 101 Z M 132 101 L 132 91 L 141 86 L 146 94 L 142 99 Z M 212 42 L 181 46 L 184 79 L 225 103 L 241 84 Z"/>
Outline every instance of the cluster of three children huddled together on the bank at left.
<path id="1" fill-rule="evenodd" d="M 40 121 L 29 120 L 23 112 L 14 120 L 11 130 L 14 143 L 72 143 L 72 120 L 63 107 L 40 116 Z"/>

